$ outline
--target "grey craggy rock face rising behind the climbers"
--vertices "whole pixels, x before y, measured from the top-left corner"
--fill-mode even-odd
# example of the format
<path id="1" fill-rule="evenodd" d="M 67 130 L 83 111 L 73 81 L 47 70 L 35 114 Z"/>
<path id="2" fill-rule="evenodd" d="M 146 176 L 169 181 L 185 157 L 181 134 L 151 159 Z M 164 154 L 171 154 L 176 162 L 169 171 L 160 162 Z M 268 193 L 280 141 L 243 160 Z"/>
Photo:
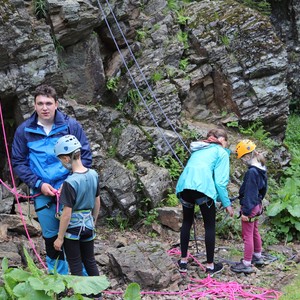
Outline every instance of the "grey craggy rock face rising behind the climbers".
<path id="1" fill-rule="evenodd" d="M 7 142 L 33 111 L 33 90 L 53 85 L 61 109 L 89 137 L 102 220 L 134 219 L 159 204 L 184 164 L 185 132 L 199 137 L 210 127 L 261 119 L 283 139 L 290 95 L 299 95 L 299 4 L 283 1 L 294 19 L 275 30 L 269 18 L 232 0 L 181 8 L 164 0 L 49 0 L 45 11 L 33 2 L 0 7 Z M 0 155 L 0 177 L 11 182 L 3 140 Z"/>

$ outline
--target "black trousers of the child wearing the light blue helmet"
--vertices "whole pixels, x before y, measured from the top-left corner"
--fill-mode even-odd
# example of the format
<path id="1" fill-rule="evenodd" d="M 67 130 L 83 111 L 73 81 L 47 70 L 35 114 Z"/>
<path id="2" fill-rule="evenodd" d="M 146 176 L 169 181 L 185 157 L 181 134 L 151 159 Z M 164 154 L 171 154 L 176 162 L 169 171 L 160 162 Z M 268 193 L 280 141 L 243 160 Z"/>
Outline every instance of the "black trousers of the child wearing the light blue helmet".
<path id="1" fill-rule="evenodd" d="M 94 240 L 82 242 L 65 238 L 64 249 L 72 275 L 83 276 L 82 264 L 89 276 L 99 275 L 94 255 Z"/>

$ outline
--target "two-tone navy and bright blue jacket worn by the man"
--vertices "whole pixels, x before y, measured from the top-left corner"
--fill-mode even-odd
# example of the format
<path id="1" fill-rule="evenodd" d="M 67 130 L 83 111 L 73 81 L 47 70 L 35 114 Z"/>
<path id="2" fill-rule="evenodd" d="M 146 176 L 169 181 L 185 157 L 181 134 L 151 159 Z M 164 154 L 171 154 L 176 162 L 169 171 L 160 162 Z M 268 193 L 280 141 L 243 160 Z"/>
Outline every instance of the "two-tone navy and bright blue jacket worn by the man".
<path id="1" fill-rule="evenodd" d="M 75 119 L 57 109 L 53 127 L 48 135 L 37 121 L 38 116 L 34 112 L 17 128 L 12 144 L 14 172 L 30 188 L 40 190 L 45 182 L 57 189 L 67 178 L 69 171 L 54 153 L 57 140 L 66 134 L 77 137 L 82 145 L 82 162 L 85 167 L 91 167 L 90 146 L 82 126 Z"/>

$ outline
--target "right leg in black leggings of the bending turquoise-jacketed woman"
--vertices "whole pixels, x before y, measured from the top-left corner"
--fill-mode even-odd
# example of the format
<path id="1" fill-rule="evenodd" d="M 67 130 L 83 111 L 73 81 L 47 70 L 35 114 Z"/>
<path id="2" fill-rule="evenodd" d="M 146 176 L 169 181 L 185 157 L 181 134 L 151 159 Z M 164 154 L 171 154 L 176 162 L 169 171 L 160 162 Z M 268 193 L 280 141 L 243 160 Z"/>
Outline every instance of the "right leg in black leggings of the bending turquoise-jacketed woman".
<path id="1" fill-rule="evenodd" d="M 216 243 L 216 206 L 213 200 L 200 205 L 205 229 L 207 264 L 213 264 Z"/>

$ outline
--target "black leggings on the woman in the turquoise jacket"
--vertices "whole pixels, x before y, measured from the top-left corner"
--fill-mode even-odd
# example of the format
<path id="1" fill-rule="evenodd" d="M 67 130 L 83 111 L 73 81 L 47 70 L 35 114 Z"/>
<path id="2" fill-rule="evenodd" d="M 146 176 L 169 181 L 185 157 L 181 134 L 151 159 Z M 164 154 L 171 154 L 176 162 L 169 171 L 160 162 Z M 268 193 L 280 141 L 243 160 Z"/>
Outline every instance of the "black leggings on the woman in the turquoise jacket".
<path id="1" fill-rule="evenodd" d="M 187 202 L 192 202 L 191 199 L 183 198 Z M 183 221 L 180 231 L 180 248 L 181 257 L 187 257 L 187 251 L 190 240 L 190 231 L 194 222 L 194 208 L 183 209 Z M 202 214 L 204 229 L 205 229 L 205 248 L 206 248 L 206 260 L 207 263 L 214 262 L 214 252 L 216 243 L 216 206 L 215 202 L 211 199 L 207 203 L 200 205 L 200 211 Z"/>

